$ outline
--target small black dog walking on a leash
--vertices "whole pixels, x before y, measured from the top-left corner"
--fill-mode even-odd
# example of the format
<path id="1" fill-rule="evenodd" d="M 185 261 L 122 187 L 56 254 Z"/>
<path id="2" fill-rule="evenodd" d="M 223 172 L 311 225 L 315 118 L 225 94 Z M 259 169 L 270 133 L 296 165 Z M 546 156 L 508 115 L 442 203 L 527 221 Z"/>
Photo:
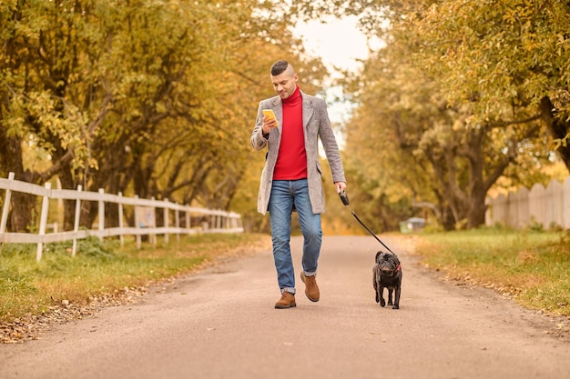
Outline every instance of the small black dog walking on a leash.
<path id="1" fill-rule="evenodd" d="M 395 292 L 392 309 L 400 309 L 402 289 L 402 264 L 396 254 L 376 253 L 376 264 L 372 268 L 372 284 L 376 291 L 376 303 L 385 306 L 384 288 L 388 289 L 388 305 L 392 305 L 392 292 Z"/>

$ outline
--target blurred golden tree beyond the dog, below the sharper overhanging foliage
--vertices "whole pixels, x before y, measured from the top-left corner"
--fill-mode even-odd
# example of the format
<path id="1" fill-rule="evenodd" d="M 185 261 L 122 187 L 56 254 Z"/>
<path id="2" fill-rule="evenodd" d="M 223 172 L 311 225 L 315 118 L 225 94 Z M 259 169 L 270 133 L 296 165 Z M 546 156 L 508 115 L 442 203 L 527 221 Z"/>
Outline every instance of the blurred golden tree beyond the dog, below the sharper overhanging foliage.
<path id="1" fill-rule="evenodd" d="M 533 145 L 523 143 L 534 135 L 467 127 L 468 109 L 449 106 L 436 83 L 390 52 L 382 50 L 352 83 L 367 89 L 347 127 L 346 150 L 361 168 L 361 187 L 370 188 L 372 201 L 427 206 L 446 229 L 482 224 L 489 188 L 509 164 L 524 161 L 520 152 Z"/>

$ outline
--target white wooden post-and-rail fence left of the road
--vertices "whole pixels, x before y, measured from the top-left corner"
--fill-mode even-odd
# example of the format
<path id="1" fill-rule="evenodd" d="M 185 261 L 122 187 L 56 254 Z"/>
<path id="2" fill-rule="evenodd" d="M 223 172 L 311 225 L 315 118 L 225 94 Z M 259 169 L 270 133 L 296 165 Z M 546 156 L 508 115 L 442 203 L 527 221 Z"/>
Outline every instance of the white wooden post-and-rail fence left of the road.
<path id="1" fill-rule="evenodd" d="M 42 259 L 43 247 L 46 243 L 62 242 L 73 240 L 72 254 L 76 254 L 76 241 L 78 239 L 87 238 L 90 235 L 99 238 L 109 236 L 119 236 L 121 244 L 125 235 L 136 235 L 137 246 L 140 247 L 141 235 L 149 235 L 151 241 L 156 242 L 157 234 L 164 234 L 165 242 L 168 243 L 168 235 L 176 234 L 179 238 L 180 234 L 192 233 L 242 233 L 243 226 L 241 224 L 241 215 L 233 212 L 225 212 L 220 210 L 211 210 L 205 208 L 192 207 L 177 203 L 170 203 L 168 199 L 140 199 L 136 197 L 125 197 L 122 194 L 105 194 L 103 189 L 99 192 L 82 191 L 81 186 L 77 190 L 52 189 L 50 183 L 46 183 L 44 187 L 41 185 L 32 185 L 26 182 L 14 180 L 14 173 L 10 173 L 7 179 L 0 178 L 0 189 L 5 190 L 5 197 L 2 209 L 2 218 L 0 219 L 0 244 L 37 244 L 36 260 Z M 8 212 L 10 209 L 10 200 L 12 192 L 25 194 L 34 194 L 42 197 L 42 209 L 39 219 L 37 234 L 34 233 L 9 233 L 6 232 L 6 224 Z M 53 228 L 53 233 L 47 233 L 48 211 L 50 200 L 75 200 L 76 213 L 74 219 L 74 230 L 68 232 L 57 232 L 57 228 Z M 79 215 L 81 210 L 81 202 L 93 201 L 98 204 L 98 227 L 93 230 L 79 230 Z M 105 228 L 105 204 L 118 204 L 118 226 Z M 125 224 L 123 208 L 124 206 L 132 206 L 135 215 L 135 224 Z M 164 212 L 164 224 L 157 226 L 156 212 L 162 209 Z M 174 214 L 174 223 L 170 223 L 170 214 Z M 180 227 L 180 214 L 185 216 L 185 226 Z M 190 216 L 198 217 L 202 221 L 198 228 L 191 227 Z M 0 256 L 1 257 L 1 256 Z"/>

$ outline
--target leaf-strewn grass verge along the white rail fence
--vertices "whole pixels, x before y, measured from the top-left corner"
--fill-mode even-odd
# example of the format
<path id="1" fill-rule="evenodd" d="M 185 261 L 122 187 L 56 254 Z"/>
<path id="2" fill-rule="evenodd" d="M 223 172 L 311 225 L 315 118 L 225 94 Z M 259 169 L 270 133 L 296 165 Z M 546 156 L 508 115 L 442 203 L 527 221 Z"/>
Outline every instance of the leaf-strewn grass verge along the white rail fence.
<path id="1" fill-rule="evenodd" d="M 67 300 L 86 304 L 101 294 L 144 286 L 179 274 L 188 274 L 200 264 L 213 263 L 236 254 L 270 248 L 270 237 L 261 234 L 195 234 L 169 244 L 134 241 L 120 246 L 117 240 L 87 238 L 77 241 L 76 256 L 71 242 L 46 244 L 36 262 L 36 244 L 4 244 L 0 250 L 0 324 L 25 315 L 42 314 L 51 305 Z"/>

